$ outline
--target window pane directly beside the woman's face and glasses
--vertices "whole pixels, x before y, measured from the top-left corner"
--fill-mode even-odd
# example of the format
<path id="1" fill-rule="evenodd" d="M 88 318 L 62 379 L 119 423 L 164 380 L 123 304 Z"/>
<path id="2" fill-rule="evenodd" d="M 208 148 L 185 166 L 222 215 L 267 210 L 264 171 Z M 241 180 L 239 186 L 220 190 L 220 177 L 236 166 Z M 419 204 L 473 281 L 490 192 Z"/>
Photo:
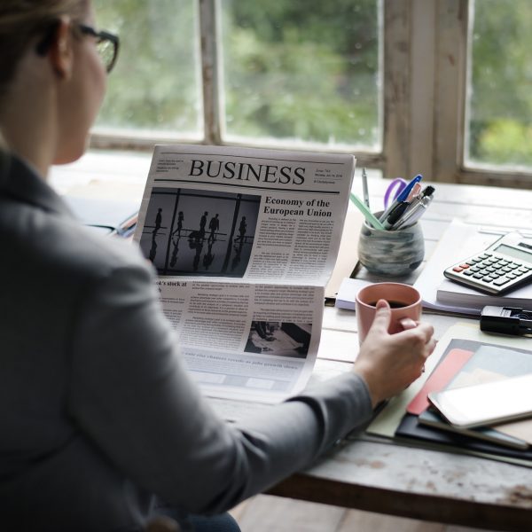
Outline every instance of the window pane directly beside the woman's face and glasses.
<path id="1" fill-rule="evenodd" d="M 96 0 L 94 4 L 98 27 L 121 38 L 98 129 L 200 137 L 195 0 Z"/>

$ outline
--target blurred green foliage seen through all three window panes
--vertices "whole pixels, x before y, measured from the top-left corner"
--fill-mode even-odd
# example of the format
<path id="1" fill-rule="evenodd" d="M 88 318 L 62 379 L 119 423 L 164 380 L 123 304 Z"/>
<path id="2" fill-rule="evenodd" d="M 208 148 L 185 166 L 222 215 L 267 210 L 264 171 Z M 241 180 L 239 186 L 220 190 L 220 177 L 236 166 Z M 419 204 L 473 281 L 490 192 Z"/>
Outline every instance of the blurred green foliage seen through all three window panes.
<path id="1" fill-rule="evenodd" d="M 121 36 L 98 125 L 202 137 L 198 0 L 95 6 L 98 26 Z M 379 0 L 220 6 L 224 138 L 379 149 Z M 530 166 L 532 2 L 473 6 L 467 156 Z"/>

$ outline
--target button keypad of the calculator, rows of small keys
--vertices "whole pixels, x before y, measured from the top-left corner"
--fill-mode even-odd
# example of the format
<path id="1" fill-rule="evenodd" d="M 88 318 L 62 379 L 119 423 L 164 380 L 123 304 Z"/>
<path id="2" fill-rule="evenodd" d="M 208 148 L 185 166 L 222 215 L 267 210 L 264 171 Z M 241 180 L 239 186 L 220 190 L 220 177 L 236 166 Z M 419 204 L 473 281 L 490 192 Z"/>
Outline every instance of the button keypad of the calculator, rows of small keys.
<path id="1" fill-rule="evenodd" d="M 497 293 L 532 276 L 532 266 L 492 252 L 474 255 L 445 270 L 447 277 Z"/>

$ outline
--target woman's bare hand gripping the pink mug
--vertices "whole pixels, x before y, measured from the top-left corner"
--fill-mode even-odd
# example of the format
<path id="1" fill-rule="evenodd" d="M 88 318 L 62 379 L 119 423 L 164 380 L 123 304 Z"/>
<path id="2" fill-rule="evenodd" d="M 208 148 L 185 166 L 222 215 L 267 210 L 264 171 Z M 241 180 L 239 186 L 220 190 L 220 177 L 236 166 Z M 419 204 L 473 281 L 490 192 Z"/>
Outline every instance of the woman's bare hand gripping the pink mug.
<path id="1" fill-rule="evenodd" d="M 387 301 L 379 300 L 372 328 L 353 364 L 353 371 L 364 378 L 370 389 L 373 406 L 397 395 L 418 379 L 424 371 L 426 357 L 436 345 L 432 325 L 405 318 L 401 322 L 402 332 L 388 334 L 390 319 Z"/>

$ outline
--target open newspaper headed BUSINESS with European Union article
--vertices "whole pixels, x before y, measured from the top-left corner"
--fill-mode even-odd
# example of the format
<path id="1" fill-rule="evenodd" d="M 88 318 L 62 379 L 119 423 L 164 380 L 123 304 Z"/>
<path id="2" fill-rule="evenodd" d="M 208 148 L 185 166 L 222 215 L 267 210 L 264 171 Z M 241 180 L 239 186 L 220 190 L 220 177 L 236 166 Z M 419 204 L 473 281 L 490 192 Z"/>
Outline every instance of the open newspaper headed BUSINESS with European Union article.
<path id="1" fill-rule="evenodd" d="M 155 146 L 134 239 L 206 395 L 277 403 L 306 385 L 355 162 Z"/>

